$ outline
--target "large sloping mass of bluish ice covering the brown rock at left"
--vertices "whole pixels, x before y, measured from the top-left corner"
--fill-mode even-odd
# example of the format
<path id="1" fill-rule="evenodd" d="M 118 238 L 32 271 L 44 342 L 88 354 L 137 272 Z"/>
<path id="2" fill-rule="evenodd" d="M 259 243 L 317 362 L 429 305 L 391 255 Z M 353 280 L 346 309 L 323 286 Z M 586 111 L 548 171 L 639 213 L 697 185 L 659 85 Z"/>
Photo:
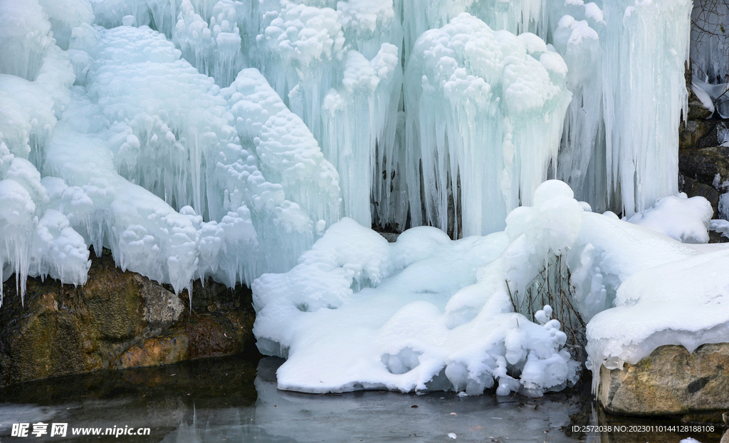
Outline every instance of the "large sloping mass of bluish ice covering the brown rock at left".
<path id="1" fill-rule="evenodd" d="M 69 6 L 88 11 L 85 1 Z M 257 134 L 269 148 L 261 160 L 245 125 L 242 134 L 234 127 L 235 91 L 223 94 L 163 34 L 66 17 L 53 26 L 79 26 L 63 51 L 41 7 L 3 12 L 28 27 L 26 39 L 35 36 L 17 58 L 24 69 L 7 65 L 0 74 L 2 195 L 19 205 L 6 210 L 2 261 L 4 277 L 21 277 L 21 293 L 28 274 L 85 282 L 90 244 L 177 291 L 206 276 L 250 283 L 262 271 L 290 269 L 338 220 L 337 172 L 311 134 L 307 149 L 297 145 L 308 130 L 300 124 L 303 139 L 284 136 L 284 144 L 278 127 Z M 16 34 L 3 47 L 20 45 Z M 268 171 L 280 183 L 258 169 L 274 151 L 295 163 L 293 175 Z"/>

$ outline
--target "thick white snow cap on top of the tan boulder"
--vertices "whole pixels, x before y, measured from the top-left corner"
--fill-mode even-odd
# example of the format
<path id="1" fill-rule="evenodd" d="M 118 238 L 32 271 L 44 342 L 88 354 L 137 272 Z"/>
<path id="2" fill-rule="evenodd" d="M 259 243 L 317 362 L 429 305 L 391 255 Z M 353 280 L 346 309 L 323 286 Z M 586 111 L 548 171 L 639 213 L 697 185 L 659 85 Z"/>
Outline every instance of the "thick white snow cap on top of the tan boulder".
<path id="1" fill-rule="evenodd" d="M 666 344 L 693 352 L 701 344 L 726 342 L 729 284 L 721 269 L 728 259 L 728 251 L 720 250 L 631 275 L 618 288 L 615 307 L 588 324 L 588 367 L 593 373 L 600 365 L 622 369 Z"/>

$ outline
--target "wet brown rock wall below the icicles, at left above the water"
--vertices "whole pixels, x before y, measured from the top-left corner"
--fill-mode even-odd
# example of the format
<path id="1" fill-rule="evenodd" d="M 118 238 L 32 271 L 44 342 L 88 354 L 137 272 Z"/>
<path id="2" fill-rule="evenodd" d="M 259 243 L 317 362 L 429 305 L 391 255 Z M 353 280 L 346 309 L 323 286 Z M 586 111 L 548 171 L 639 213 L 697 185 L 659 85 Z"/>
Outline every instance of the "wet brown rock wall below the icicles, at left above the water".
<path id="1" fill-rule="evenodd" d="M 108 255 L 93 259 L 82 287 L 28 279 L 24 306 L 11 277 L 0 309 L 0 385 L 252 350 L 247 288 L 195 282 L 192 294 L 191 311 L 187 293 L 121 271 Z"/>

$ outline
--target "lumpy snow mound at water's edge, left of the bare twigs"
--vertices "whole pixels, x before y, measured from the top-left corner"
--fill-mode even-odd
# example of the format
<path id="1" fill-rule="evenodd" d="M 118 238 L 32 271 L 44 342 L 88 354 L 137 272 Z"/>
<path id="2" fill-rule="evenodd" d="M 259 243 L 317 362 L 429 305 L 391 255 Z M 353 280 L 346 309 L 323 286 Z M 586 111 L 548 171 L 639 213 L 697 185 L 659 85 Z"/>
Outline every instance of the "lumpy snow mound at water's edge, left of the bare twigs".
<path id="1" fill-rule="evenodd" d="M 456 242 L 435 228 L 388 244 L 343 219 L 286 274 L 254 282 L 254 334 L 288 360 L 278 387 L 305 392 L 453 389 L 541 396 L 577 378 L 566 336 L 512 313 L 504 277 L 526 284 L 574 239 L 582 208 L 562 183 L 512 213 L 507 231 Z M 543 226 L 543 227 L 542 227 Z"/>

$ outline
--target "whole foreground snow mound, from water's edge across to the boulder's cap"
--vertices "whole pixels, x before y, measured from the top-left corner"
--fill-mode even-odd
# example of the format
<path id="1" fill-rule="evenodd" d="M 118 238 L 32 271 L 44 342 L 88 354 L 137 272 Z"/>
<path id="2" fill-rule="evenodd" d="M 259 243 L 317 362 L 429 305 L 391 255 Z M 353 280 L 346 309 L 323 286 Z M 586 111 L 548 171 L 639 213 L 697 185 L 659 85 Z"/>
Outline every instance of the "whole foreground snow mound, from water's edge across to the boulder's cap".
<path id="1" fill-rule="evenodd" d="M 663 344 L 693 350 L 725 340 L 729 317 L 720 306 L 729 283 L 717 276 L 727 250 L 706 252 L 612 212 L 585 211 L 564 182 L 543 183 L 533 200 L 510 213 L 505 231 L 458 241 L 421 227 L 389 244 L 344 218 L 294 269 L 255 280 L 258 347 L 287 358 L 279 388 L 559 390 L 579 363 L 563 348 L 551 307 L 534 314 L 536 323 L 512 313 L 550 255 L 569 266 L 564 284 L 589 322 L 596 383 L 603 364 L 635 363 Z M 701 218 L 705 206 L 663 199 L 646 219 L 670 218 L 677 207 Z"/>

